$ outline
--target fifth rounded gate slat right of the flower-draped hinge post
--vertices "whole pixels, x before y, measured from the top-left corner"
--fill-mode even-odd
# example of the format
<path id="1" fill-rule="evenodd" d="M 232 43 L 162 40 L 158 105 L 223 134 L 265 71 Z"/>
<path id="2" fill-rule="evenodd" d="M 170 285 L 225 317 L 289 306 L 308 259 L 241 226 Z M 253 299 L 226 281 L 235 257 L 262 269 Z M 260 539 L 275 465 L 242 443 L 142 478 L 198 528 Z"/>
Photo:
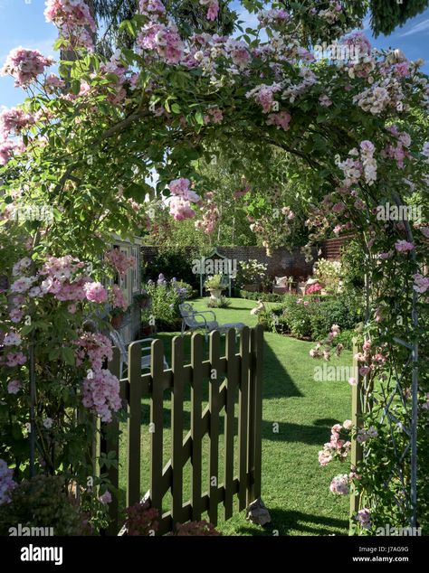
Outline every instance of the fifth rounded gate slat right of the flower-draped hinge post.
<path id="1" fill-rule="evenodd" d="M 210 522 L 217 525 L 217 504 L 219 492 L 217 488 L 219 474 L 219 358 L 220 333 L 210 333 L 210 380 L 209 380 L 209 408 L 210 408 L 210 456 L 209 456 L 209 508 Z M 213 378 L 212 378 L 213 376 Z"/>

